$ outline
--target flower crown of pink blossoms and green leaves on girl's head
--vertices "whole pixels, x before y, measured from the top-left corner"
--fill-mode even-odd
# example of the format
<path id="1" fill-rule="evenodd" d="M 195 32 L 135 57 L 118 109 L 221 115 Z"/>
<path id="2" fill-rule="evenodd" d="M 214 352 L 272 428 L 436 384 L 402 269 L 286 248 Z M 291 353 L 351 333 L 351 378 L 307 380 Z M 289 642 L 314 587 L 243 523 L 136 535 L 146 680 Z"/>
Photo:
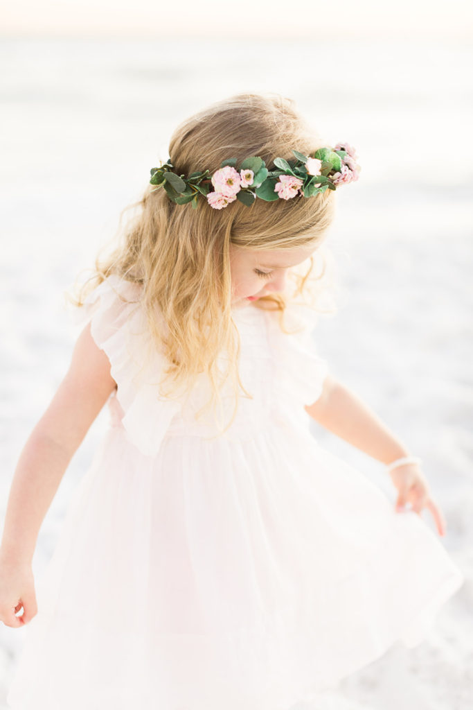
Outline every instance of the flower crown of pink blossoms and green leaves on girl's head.
<path id="1" fill-rule="evenodd" d="M 191 202 L 192 207 L 197 207 L 199 195 L 203 195 L 211 207 L 222 209 L 235 200 L 251 207 L 256 197 L 266 202 L 290 200 L 296 195 L 312 197 L 358 180 L 361 168 L 356 163 L 355 149 L 348 143 L 319 148 L 313 156 L 292 152 L 296 160 L 274 158 L 274 170 L 268 170 L 265 161 L 253 155 L 238 168 L 236 158 L 228 158 L 213 175 L 209 170 L 198 170 L 188 178 L 172 172 L 174 165 L 169 158 L 159 168 L 151 168 L 150 184 L 157 185 L 155 190 L 164 187 L 176 204 Z"/>

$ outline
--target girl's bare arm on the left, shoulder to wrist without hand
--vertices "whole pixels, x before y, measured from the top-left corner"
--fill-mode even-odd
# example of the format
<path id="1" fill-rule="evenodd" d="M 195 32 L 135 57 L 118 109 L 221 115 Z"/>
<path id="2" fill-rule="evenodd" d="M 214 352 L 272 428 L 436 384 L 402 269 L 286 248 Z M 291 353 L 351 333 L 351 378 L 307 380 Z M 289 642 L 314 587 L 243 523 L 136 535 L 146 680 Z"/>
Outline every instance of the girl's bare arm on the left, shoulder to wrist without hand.
<path id="1" fill-rule="evenodd" d="M 21 451 L 13 476 L 0 561 L 30 564 L 40 525 L 70 459 L 116 383 L 90 324 L 74 346 L 65 378 Z"/>

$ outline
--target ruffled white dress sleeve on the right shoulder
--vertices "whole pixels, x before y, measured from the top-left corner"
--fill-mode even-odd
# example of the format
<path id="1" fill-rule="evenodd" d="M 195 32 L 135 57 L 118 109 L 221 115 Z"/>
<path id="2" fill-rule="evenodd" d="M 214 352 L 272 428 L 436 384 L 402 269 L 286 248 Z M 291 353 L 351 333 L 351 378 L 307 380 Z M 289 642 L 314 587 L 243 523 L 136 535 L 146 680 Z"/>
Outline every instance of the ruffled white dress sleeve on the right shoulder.
<path id="1" fill-rule="evenodd" d="M 313 340 L 317 314 L 306 305 L 289 303 L 284 324 L 290 334 L 282 332 L 278 318 L 279 314 L 272 313 L 269 319 L 278 396 L 285 402 L 311 405 L 321 396 L 328 375 L 328 363 L 318 356 Z"/>

